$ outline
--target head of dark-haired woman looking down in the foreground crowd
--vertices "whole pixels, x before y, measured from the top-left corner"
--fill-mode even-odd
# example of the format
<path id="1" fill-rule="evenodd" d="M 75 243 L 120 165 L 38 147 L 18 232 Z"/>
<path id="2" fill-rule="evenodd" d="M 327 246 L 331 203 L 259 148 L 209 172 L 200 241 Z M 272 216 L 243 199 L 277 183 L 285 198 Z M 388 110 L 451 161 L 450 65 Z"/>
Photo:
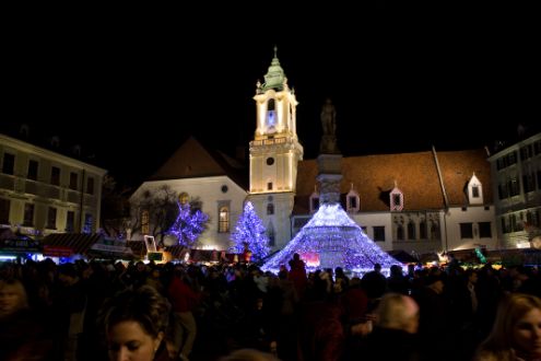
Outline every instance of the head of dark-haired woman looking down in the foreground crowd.
<path id="1" fill-rule="evenodd" d="M 167 300 L 150 286 L 128 289 L 107 300 L 99 322 L 109 360 L 169 360 L 165 347 L 169 310 Z"/>

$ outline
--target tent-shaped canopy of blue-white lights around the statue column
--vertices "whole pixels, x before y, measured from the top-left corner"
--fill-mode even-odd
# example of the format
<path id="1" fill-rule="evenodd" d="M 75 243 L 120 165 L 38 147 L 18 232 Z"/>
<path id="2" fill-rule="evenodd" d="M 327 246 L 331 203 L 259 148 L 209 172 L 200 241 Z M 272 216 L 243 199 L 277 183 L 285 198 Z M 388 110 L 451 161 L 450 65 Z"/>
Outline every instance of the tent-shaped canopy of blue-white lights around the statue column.
<path id="1" fill-rule="evenodd" d="M 342 267 L 355 273 L 365 273 L 380 264 L 383 270 L 402 264 L 374 243 L 348 216 L 339 203 L 322 203 L 311 220 L 287 245 L 261 267 L 278 272 L 298 253 L 313 271 Z"/>

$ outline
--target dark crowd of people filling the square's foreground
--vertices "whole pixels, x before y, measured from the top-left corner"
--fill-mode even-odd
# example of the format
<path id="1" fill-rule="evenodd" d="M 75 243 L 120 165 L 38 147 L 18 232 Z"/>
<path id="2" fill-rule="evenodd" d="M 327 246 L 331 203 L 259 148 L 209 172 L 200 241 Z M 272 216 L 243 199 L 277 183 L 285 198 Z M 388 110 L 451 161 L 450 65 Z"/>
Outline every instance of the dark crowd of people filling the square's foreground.
<path id="1" fill-rule="evenodd" d="M 541 360 L 537 268 L 0 264 L 0 360 Z"/>

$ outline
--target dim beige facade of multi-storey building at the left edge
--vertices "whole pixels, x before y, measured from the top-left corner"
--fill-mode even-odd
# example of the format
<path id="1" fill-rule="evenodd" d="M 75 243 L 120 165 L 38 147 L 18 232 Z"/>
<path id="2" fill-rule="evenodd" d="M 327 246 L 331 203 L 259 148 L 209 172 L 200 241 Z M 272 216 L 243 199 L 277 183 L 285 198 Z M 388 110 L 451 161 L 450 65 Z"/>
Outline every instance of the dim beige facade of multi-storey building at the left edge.
<path id="1" fill-rule="evenodd" d="M 10 158 L 7 154 L 14 155 L 13 174 L 4 173 L 4 163 Z M 36 179 L 28 178 L 31 161 L 37 163 Z M 60 170 L 58 185 L 51 184 L 52 167 Z M 77 174 L 77 182 L 72 185 L 71 173 Z M 0 221 L 0 226 L 31 235 L 82 232 L 85 231 L 85 214 L 91 214 L 92 224 L 86 231 L 96 232 L 105 174 L 106 171 L 97 166 L 0 135 L 0 199 L 4 205 L 9 201 L 8 222 Z M 87 191 L 89 182 L 94 184 L 92 194 Z M 34 217 L 25 223 L 25 207 L 30 205 L 34 207 Z M 55 224 L 47 224 L 50 209 L 57 212 Z M 67 224 L 69 211 L 74 214 L 72 230 Z"/>

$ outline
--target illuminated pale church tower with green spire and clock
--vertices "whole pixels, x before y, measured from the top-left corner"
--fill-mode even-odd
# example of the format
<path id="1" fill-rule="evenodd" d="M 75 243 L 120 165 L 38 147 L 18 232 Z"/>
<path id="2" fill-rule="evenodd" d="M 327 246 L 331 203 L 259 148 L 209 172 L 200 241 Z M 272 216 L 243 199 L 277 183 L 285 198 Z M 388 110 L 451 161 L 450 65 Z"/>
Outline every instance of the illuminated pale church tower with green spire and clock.
<path id="1" fill-rule="evenodd" d="M 297 163 L 303 159 L 303 145 L 296 132 L 294 91 L 274 58 L 257 82 L 254 96 L 257 127 L 250 142 L 250 200 L 267 228 L 272 249 L 282 248 L 291 240 L 291 213 L 297 180 Z"/>

